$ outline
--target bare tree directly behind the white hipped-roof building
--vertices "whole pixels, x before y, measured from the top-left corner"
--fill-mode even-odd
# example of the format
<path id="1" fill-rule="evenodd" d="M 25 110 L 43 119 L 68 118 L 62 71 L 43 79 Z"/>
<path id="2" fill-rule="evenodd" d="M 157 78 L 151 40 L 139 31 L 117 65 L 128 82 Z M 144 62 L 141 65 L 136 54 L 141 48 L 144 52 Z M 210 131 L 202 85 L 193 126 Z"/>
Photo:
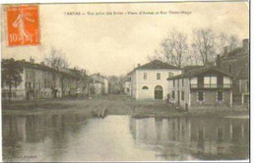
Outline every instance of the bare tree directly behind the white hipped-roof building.
<path id="1" fill-rule="evenodd" d="M 172 29 L 160 45 L 165 62 L 181 67 L 188 51 L 187 35 Z"/>

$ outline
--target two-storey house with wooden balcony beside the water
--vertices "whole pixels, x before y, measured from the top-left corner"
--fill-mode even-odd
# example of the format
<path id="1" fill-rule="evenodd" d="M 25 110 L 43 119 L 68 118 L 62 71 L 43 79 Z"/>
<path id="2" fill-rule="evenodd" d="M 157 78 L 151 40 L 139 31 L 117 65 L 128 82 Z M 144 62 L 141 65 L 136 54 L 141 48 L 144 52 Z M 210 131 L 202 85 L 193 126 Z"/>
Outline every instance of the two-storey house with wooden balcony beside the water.
<path id="1" fill-rule="evenodd" d="M 217 68 L 194 69 L 167 81 L 168 101 L 182 108 L 232 105 L 232 78 Z"/>

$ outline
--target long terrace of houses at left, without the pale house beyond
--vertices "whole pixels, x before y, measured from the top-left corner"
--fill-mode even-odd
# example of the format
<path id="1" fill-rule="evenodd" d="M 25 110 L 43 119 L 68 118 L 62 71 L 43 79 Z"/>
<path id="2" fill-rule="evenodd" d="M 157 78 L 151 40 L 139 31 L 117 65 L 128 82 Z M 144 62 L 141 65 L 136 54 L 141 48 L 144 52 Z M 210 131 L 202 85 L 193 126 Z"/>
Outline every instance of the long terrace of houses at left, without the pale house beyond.
<path id="1" fill-rule="evenodd" d="M 69 70 L 56 71 L 43 63 L 36 64 L 31 59 L 16 61 L 23 71 L 20 74 L 22 82 L 19 85 L 12 86 L 11 100 L 32 100 L 43 98 L 60 98 L 71 96 L 78 92 L 72 89 L 82 89 L 80 82 L 83 81 L 83 75 L 74 75 Z M 2 99 L 9 99 L 9 86 L 2 84 Z"/>

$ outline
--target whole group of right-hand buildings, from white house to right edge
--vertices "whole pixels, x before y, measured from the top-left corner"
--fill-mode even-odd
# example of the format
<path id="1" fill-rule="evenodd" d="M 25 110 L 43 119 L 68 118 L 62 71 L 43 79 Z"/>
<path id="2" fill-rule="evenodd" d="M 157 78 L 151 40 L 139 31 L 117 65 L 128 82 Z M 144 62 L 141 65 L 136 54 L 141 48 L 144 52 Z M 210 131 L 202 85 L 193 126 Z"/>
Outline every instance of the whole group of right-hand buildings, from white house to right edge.
<path id="1" fill-rule="evenodd" d="M 214 66 L 183 69 L 155 60 L 128 73 L 125 94 L 160 99 L 183 108 L 249 103 L 249 40 L 218 55 Z"/>

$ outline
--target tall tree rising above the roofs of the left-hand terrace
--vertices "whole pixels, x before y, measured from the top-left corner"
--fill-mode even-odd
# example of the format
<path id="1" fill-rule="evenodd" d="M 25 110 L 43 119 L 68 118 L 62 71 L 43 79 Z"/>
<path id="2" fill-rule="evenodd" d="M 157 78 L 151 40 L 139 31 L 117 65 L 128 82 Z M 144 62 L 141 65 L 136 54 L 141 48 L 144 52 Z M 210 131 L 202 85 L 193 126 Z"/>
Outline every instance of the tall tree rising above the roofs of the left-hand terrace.
<path id="1" fill-rule="evenodd" d="M 66 70 L 68 68 L 68 63 L 64 59 L 64 54 L 62 54 L 61 51 L 57 51 L 54 48 L 51 48 L 50 55 L 44 59 L 44 62 L 49 67 L 53 68 L 55 71 L 52 72 L 52 91 L 54 94 L 54 97 L 56 97 L 56 90 L 55 87 L 57 86 L 57 78 L 60 79 L 61 82 L 61 91 L 62 91 L 62 97 L 64 92 L 64 78 L 65 74 L 62 73 L 62 71 Z"/>

